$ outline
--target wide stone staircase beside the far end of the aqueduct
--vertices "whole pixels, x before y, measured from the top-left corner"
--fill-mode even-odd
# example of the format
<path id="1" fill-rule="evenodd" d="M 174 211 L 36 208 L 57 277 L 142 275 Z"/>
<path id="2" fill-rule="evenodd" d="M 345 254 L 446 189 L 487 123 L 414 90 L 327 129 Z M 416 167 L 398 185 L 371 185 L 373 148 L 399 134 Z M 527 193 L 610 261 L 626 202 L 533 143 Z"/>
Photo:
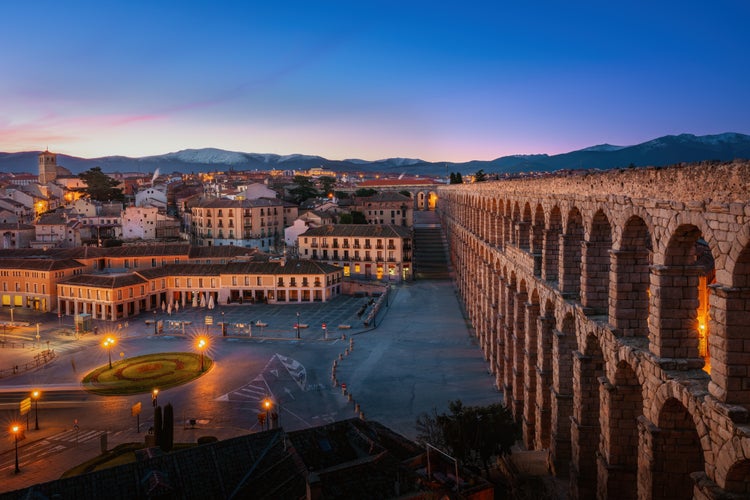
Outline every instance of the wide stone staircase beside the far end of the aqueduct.
<path id="1" fill-rule="evenodd" d="M 451 279 L 448 242 L 435 212 L 414 212 L 414 276 L 416 279 Z"/>

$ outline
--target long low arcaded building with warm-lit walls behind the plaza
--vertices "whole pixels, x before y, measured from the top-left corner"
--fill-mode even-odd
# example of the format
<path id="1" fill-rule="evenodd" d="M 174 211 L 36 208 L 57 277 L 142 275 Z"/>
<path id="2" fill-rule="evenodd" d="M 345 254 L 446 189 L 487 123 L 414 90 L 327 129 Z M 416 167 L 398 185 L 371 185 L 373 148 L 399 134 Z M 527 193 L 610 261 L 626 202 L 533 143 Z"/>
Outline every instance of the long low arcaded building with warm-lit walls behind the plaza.
<path id="1" fill-rule="evenodd" d="M 77 274 L 57 284 L 60 314 L 118 321 L 158 308 L 226 303 L 327 302 L 343 270 L 322 262 L 170 264 L 130 273 Z"/>

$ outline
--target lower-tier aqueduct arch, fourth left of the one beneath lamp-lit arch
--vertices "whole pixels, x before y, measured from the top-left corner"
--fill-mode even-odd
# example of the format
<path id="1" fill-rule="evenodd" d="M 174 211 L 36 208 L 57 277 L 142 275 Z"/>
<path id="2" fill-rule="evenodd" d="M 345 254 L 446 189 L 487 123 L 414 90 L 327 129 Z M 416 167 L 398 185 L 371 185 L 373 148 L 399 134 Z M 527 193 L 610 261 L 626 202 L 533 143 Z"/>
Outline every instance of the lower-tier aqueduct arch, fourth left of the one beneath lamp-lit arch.
<path id="1" fill-rule="evenodd" d="M 555 303 L 547 299 L 544 303 L 544 315 L 539 318 L 537 334 L 536 364 L 536 434 L 535 448 L 550 447 L 551 434 L 551 399 L 552 390 L 552 337 L 557 323 L 555 321 Z"/>

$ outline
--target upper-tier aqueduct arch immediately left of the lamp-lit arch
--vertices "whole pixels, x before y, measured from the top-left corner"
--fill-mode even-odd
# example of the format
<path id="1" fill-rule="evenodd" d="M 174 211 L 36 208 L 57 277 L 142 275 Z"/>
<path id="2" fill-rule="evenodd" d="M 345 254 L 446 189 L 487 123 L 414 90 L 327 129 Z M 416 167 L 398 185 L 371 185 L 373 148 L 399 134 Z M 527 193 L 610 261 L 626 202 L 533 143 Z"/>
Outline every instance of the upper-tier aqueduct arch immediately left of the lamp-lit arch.
<path id="1" fill-rule="evenodd" d="M 609 323 L 626 337 L 648 335 L 652 251 L 646 222 L 630 216 L 620 235 L 620 248 L 612 251 L 609 293 Z"/>

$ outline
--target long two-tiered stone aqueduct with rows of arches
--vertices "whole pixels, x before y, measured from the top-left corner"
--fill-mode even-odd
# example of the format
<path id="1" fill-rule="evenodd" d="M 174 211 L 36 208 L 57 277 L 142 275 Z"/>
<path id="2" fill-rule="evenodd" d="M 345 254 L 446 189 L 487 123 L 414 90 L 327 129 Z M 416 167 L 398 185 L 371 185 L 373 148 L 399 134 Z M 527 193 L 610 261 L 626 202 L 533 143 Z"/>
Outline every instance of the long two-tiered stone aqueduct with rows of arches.
<path id="1" fill-rule="evenodd" d="M 750 495 L 750 163 L 439 188 L 457 287 L 572 498 Z"/>

